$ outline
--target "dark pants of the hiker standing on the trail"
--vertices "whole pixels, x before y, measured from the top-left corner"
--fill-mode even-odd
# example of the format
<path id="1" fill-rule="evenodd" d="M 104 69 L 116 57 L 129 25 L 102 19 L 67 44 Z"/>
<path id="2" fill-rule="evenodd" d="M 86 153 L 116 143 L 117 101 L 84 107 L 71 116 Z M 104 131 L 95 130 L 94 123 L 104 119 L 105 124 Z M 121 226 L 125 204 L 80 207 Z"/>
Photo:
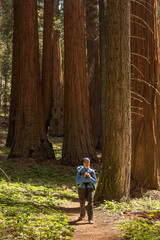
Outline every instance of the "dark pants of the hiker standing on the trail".
<path id="1" fill-rule="evenodd" d="M 88 220 L 92 220 L 93 218 L 93 200 L 94 200 L 94 190 L 93 188 L 79 188 L 78 189 L 78 195 L 79 195 L 79 202 L 80 202 L 80 216 L 85 216 L 85 202 L 86 199 L 88 201 L 87 206 L 87 214 L 88 214 Z"/>

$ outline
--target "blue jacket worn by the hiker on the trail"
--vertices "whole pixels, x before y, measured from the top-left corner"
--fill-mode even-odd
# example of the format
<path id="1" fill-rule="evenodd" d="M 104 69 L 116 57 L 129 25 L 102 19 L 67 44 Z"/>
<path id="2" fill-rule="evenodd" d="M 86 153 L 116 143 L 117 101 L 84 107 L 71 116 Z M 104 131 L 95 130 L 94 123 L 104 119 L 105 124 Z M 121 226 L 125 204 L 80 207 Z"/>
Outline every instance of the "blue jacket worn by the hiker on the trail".
<path id="1" fill-rule="evenodd" d="M 84 178 L 84 173 L 88 172 L 91 177 L 88 178 Z M 76 182 L 79 185 L 80 188 L 85 188 L 85 184 L 84 183 L 89 183 L 87 185 L 88 188 L 94 188 L 95 189 L 95 184 L 97 183 L 97 178 L 96 178 L 96 174 L 95 171 L 93 169 L 91 169 L 90 167 L 85 169 L 83 166 L 79 166 L 77 168 L 77 178 L 76 178 Z"/>

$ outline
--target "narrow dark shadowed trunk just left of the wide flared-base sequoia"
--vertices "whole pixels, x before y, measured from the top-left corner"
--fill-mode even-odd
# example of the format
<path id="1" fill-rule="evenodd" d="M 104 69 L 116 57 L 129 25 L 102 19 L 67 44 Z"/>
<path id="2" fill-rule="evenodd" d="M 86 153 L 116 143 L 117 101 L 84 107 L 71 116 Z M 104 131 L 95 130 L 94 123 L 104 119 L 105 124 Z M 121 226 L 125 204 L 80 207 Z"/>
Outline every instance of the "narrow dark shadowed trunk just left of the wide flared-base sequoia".
<path id="1" fill-rule="evenodd" d="M 9 129 L 6 140 L 6 146 L 11 147 L 14 139 L 14 128 L 17 110 L 17 92 L 19 79 L 19 62 L 20 62 L 20 13 L 19 5 L 14 2 L 14 26 L 13 26 L 13 52 L 12 52 L 12 80 L 11 80 L 11 97 L 10 97 L 10 113 L 9 113 Z"/>

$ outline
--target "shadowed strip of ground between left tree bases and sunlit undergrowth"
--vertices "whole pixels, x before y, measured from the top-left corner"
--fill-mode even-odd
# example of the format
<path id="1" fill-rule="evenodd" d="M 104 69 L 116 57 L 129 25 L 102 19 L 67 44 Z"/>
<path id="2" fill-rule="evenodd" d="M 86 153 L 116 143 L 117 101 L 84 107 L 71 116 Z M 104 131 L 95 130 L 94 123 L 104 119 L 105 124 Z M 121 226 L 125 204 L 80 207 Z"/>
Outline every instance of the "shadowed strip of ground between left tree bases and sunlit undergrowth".
<path id="1" fill-rule="evenodd" d="M 76 188 L 76 168 L 62 166 L 59 161 L 47 160 L 37 163 L 34 159 L 0 158 L 0 167 L 11 179 L 11 182 L 32 183 L 66 188 Z M 0 179 L 6 177 L 0 173 Z"/>

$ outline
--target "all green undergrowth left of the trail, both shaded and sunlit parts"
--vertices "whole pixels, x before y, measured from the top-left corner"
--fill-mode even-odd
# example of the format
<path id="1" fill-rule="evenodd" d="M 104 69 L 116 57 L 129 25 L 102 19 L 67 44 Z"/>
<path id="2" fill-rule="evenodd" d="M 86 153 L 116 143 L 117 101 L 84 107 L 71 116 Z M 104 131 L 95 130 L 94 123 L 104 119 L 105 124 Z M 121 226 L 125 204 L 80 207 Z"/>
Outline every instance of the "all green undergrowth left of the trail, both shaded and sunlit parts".
<path id="1" fill-rule="evenodd" d="M 3 155 L 0 167 L 11 179 L 0 172 L 0 239 L 72 239 L 74 227 L 61 204 L 77 197 L 75 168 L 8 161 Z"/>

